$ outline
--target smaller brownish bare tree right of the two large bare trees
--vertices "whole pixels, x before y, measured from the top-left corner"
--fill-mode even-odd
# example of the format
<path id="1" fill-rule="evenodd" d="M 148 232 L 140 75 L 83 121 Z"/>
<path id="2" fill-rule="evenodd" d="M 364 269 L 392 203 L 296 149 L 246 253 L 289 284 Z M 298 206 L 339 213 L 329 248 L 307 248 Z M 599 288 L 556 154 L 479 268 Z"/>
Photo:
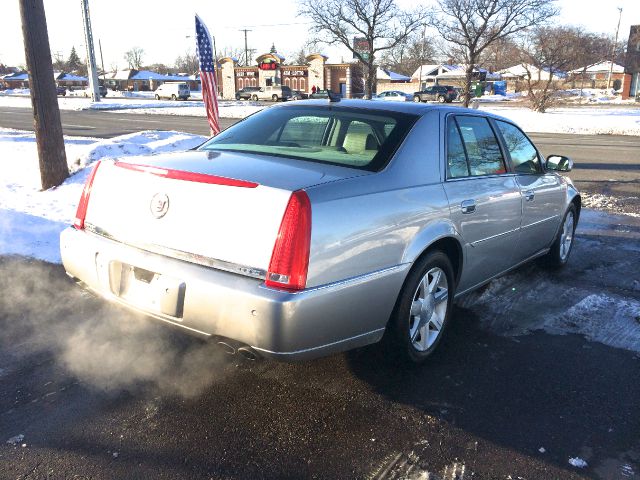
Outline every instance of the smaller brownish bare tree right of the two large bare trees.
<path id="1" fill-rule="evenodd" d="M 531 109 L 544 113 L 558 97 L 559 74 L 573 61 L 575 37 L 568 27 L 538 27 L 523 47 Z"/>

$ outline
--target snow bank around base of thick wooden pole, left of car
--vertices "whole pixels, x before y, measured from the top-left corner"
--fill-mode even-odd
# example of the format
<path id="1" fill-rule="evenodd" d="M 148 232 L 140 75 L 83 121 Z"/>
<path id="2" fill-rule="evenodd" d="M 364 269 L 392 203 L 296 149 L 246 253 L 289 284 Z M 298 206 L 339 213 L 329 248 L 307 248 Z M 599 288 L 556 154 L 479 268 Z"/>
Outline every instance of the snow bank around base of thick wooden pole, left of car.
<path id="1" fill-rule="evenodd" d="M 67 137 L 67 163 L 74 174 L 61 186 L 40 191 L 34 134 L 0 129 L 0 255 L 60 262 L 59 234 L 73 221 L 89 172 L 86 167 L 95 160 L 187 150 L 205 140 L 199 135 L 160 131 L 109 140 Z"/>

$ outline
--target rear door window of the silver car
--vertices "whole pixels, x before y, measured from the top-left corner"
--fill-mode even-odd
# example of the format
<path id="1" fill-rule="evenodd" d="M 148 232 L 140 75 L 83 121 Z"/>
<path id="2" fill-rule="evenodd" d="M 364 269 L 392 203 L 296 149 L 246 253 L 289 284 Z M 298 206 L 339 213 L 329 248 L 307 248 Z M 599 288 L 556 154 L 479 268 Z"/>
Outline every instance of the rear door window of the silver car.
<path id="1" fill-rule="evenodd" d="M 504 158 L 489 121 L 484 117 L 457 115 L 471 176 L 505 173 Z"/>

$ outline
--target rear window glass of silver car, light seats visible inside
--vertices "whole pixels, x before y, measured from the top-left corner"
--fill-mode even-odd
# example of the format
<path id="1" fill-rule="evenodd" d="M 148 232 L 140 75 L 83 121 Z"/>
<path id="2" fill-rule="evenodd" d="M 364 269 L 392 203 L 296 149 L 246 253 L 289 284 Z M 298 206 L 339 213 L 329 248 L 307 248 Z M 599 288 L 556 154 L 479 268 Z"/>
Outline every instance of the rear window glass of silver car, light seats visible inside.
<path id="1" fill-rule="evenodd" d="M 417 118 L 405 113 L 333 106 L 270 108 L 228 128 L 200 149 L 378 171 L 389 162 Z"/>

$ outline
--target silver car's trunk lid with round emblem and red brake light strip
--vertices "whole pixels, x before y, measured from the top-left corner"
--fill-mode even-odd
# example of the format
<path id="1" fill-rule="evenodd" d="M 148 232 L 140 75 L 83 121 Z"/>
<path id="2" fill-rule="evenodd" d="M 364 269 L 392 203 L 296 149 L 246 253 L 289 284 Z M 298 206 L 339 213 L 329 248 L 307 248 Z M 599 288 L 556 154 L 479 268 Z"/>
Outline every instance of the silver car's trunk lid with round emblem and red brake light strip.
<path id="1" fill-rule="evenodd" d="M 235 152 L 130 157 L 103 162 L 85 224 L 145 250 L 260 277 L 293 191 L 366 174 Z"/>

